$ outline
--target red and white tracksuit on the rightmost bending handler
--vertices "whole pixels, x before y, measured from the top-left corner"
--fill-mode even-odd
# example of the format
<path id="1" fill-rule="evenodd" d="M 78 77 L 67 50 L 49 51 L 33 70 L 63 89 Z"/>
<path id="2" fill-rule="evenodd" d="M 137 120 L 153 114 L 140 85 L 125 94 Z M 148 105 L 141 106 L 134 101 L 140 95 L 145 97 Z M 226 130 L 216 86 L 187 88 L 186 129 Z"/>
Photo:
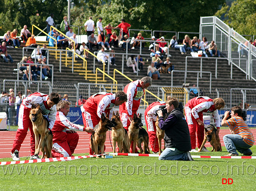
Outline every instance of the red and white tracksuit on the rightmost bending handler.
<path id="1" fill-rule="evenodd" d="M 219 113 L 215 109 L 213 100 L 210 97 L 200 96 L 188 100 L 188 103 L 185 105 L 185 114 L 190 132 L 191 149 L 196 149 L 196 134 L 198 148 L 201 147 L 204 140 L 204 126 L 200 126 L 196 121 L 198 118 L 203 121 L 203 112 L 212 113 L 216 127 L 220 128 Z"/>

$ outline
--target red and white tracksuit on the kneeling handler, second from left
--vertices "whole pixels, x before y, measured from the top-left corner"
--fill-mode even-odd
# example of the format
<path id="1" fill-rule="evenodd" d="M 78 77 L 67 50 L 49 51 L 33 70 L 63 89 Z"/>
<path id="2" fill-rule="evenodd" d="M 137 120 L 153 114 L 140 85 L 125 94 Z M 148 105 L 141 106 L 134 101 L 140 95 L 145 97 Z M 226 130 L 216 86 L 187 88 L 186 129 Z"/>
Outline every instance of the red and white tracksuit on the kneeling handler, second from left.
<path id="1" fill-rule="evenodd" d="M 52 127 L 52 157 L 71 157 L 74 153 L 79 135 L 68 133 L 69 129 L 85 131 L 85 127 L 71 123 L 61 111 L 57 111 L 56 121 Z"/>

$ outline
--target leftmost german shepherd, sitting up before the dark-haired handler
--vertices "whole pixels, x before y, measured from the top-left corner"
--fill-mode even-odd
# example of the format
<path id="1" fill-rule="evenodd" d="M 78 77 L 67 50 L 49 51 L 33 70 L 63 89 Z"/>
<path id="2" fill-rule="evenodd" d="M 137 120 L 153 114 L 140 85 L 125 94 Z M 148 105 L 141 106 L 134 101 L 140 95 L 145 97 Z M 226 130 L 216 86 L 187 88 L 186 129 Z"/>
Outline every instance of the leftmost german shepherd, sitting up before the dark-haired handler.
<path id="1" fill-rule="evenodd" d="M 33 124 L 33 131 L 34 131 L 35 140 L 36 140 L 35 155 L 38 156 L 41 150 L 43 153 L 42 159 L 44 157 L 52 158 L 52 137 L 53 137 L 52 131 L 48 130 L 49 121 L 46 117 L 42 115 L 40 105 L 35 107 L 35 105 L 32 104 L 29 118 Z M 39 141 L 39 135 L 40 135 L 40 141 Z"/>

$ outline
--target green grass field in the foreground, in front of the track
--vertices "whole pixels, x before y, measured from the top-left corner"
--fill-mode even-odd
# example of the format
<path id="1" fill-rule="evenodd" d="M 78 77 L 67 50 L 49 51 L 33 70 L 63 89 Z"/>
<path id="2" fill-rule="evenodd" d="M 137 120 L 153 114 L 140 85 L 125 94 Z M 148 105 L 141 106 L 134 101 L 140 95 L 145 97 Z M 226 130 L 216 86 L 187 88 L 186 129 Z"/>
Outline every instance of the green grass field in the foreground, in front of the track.
<path id="1" fill-rule="evenodd" d="M 222 149 L 222 152 L 192 155 L 228 154 L 225 147 Z M 255 145 L 252 152 L 255 155 Z M 0 166 L 0 190 L 254 190 L 255 160 L 159 161 L 158 157 L 114 156 L 112 159 L 4 165 Z M 233 183 L 222 185 L 222 178 L 230 178 Z"/>

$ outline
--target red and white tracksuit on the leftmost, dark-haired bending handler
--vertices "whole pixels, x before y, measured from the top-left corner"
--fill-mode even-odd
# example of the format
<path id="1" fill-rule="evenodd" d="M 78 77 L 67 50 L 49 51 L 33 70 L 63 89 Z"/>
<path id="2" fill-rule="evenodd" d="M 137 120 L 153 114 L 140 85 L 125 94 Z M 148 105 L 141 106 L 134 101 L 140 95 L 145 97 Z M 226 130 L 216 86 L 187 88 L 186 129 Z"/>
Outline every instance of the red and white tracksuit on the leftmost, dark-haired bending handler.
<path id="1" fill-rule="evenodd" d="M 56 119 L 56 105 L 52 107 L 48 107 L 46 101 L 48 99 L 48 95 L 42 94 L 40 92 L 35 92 L 22 100 L 20 104 L 20 110 L 18 115 L 18 129 L 16 132 L 16 137 L 14 139 L 14 143 L 12 146 L 12 153 L 15 150 L 20 150 L 21 144 L 23 143 L 28 128 L 30 131 L 30 152 L 31 156 L 35 154 L 35 136 L 33 132 L 33 125 L 29 118 L 29 113 L 31 110 L 32 104 L 39 104 L 42 110 L 42 114 L 47 117 L 50 122 L 49 128 L 52 129 L 55 119 Z"/>

